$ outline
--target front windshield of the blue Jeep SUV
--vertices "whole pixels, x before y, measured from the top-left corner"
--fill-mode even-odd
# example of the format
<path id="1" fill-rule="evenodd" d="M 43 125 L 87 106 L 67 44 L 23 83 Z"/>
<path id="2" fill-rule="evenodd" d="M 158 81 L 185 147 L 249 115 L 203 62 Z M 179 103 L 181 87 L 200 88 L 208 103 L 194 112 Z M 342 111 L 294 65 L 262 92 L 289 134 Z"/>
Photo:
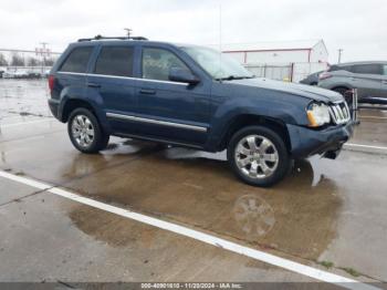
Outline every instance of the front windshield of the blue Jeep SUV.
<path id="1" fill-rule="evenodd" d="M 181 49 L 216 80 L 254 77 L 238 61 L 216 50 L 200 46 L 185 46 Z"/>

